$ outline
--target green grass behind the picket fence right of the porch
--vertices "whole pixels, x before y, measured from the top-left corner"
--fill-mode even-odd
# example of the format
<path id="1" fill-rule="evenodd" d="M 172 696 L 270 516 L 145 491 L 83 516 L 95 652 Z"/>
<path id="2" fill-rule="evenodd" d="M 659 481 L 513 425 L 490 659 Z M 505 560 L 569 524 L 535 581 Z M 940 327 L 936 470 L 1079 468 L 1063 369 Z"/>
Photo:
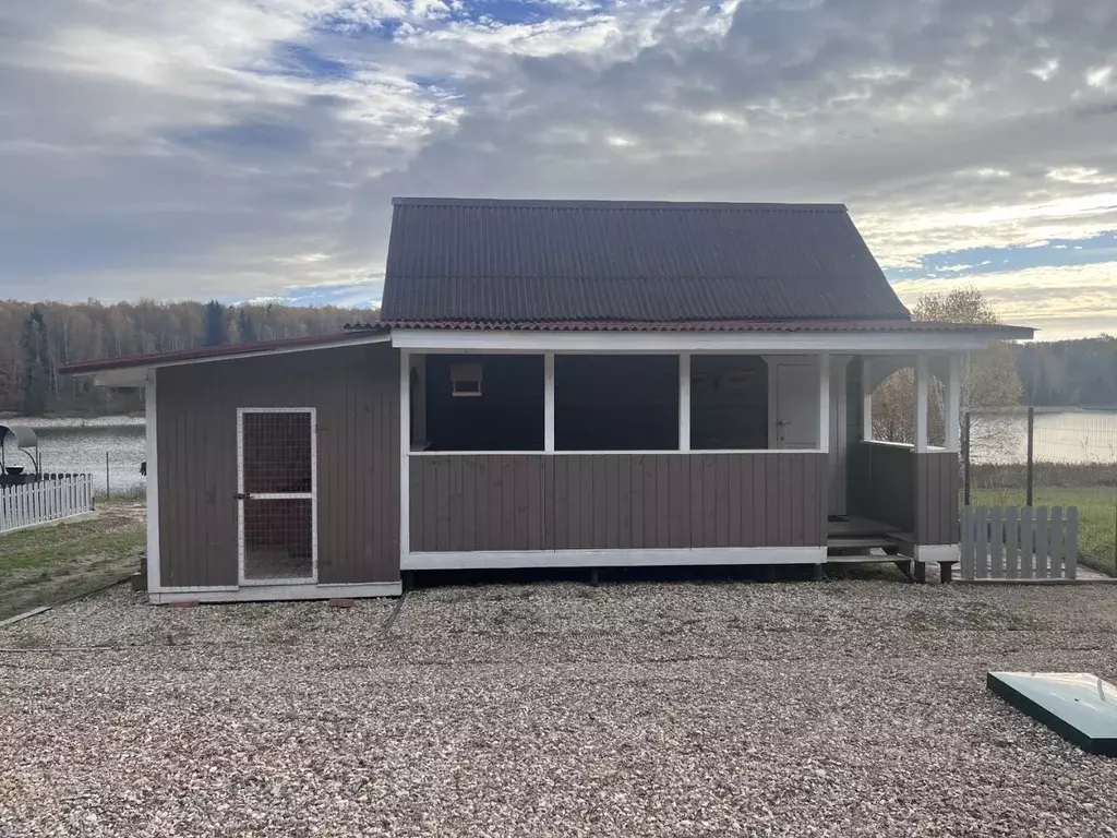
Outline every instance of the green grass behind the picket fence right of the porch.
<path id="1" fill-rule="evenodd" d="M 1021 506 L 1022 488 L 974 488 L 974 506 Z M 1035 506 L 1078 507 L 1078 555 L 1082 564 L 1114 575 L 1114 541 L 1117 535 L 1117 489 L 1113 486 L 1065 488 L 1038 487 Z"/>

